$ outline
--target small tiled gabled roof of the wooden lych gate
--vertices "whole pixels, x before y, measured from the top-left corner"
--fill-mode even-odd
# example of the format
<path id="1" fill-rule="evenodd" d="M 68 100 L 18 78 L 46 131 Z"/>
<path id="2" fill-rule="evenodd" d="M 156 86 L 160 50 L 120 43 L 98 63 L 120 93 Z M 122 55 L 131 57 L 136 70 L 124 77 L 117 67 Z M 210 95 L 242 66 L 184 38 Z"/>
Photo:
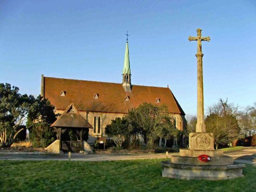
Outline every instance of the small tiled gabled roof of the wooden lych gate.
<path id="1" fill-rule="evenodd" d="M 92 125 L 84 119 L 73 103 L 63 112 L 63 114 L 51 125 L 52 127 L 69 127 L 69 128 L 92 128 Z"/>

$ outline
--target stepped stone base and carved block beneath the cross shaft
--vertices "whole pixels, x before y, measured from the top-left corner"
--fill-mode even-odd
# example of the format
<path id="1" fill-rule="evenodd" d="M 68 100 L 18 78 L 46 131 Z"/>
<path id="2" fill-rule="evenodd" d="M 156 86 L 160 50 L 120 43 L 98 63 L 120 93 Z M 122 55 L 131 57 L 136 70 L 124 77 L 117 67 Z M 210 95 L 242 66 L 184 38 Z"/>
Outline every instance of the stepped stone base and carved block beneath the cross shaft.
<path id="1" fill-rule="evenodd" d="M 208 162 L 200 161 L 198 156 L 207 155 Z M 175 179 L 224 180 L 244 177 L 244 164 L 233 164 L 233 158 L 223 156 L 223 151 L 214 150 L 211 133 L 190 133 L 188 150 L 180 150 L 172 155 L 170 161 L 162 162 L 162 177 Z"/>

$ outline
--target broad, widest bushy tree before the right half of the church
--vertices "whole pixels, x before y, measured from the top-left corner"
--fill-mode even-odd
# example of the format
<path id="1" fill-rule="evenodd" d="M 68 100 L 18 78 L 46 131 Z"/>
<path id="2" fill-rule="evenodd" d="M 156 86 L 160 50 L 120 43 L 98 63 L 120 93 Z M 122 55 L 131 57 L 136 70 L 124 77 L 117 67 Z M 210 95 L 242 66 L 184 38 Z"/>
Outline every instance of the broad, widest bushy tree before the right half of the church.
<path id="1" fill-rule="evenodd" d="M 158 138 L 168 139 L 173 136 L 174 124 L 170 121 L 166 105 L 142 103 L 127 114 L 127 119 L 134 129 L 144 137 L 149 148 Z"/>

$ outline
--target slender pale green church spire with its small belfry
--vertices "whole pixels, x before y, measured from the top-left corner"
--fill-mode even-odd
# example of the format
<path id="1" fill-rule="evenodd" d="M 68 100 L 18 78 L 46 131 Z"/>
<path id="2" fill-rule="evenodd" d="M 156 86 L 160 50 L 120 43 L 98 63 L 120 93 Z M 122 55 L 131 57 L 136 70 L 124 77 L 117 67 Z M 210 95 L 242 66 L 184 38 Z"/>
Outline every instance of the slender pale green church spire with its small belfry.
<path id="1" fill-rule="evenodd" d="M 130 58 L 129 58 L 129 47 L 128 47 L 128 32 L 125 34 L 126 38 L 126 47 L 125 47 L 125 55 L 124 55 L 124 63 L 123 63 L 123 89 L 126 92 L 131 92 L 131 68 L 130 68 Z"/>

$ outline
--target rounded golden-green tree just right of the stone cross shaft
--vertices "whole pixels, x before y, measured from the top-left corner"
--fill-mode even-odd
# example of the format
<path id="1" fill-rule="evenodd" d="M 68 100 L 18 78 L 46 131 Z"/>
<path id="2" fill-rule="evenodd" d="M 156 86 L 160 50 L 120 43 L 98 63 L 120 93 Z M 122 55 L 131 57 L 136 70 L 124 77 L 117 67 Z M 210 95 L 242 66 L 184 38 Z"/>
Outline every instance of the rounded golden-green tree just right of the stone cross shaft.
<path id="1" fill-rule="evenodd" d="M 220 99 L 217 104 L 209 107 L 209 114 L 205 119 L 206 132 L 214 134 L 216 148 L 220 144 L 229 144 L 236 139 L 240 132 L 237 120 L 237 107 Z"/>

